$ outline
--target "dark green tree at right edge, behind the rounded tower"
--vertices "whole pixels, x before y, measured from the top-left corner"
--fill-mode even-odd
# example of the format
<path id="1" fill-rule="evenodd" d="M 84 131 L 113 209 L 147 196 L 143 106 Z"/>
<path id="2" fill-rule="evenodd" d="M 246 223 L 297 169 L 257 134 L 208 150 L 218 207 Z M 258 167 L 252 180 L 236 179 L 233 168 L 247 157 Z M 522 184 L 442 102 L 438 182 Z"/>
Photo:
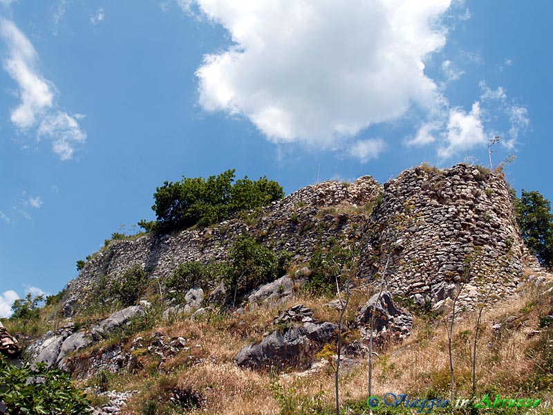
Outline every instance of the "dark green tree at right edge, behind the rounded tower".
<path id="1" fill-rule="evenodd" d="M 553 266 L 553 214 L 551 203 L 540 192 L 522 191 L 515 199 L 516 215 L 526 246 L 542 266 Z"/>

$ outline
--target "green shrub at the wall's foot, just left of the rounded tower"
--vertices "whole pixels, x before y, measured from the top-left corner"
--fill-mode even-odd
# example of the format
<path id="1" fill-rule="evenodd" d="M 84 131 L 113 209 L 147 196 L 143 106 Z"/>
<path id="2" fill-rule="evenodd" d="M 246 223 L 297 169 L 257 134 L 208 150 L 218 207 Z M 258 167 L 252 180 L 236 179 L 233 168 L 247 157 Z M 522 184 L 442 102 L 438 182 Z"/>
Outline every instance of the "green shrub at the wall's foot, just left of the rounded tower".
<path id="1" fill-rule="evenodd" d="M 328 252 L 316 250 L 309 261 L 311 279 L 305 289 L 313 295 L 333 295 L 335 278 L 353 267 L 353 252 L 334 243 Z"/>

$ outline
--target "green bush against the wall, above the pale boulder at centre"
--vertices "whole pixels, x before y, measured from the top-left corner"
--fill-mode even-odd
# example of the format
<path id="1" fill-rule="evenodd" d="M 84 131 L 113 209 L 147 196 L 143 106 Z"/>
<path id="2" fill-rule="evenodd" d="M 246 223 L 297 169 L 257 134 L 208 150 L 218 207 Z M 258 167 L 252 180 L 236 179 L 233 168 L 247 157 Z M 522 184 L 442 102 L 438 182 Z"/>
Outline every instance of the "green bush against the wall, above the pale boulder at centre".
<path id="1" fill-rule="evenodd" d="M 277 257 L 269 248 L 252 237 L 241 236 L 229 252 L 229 260 L 223 267 L 223 280 L 228 288 L 232 304 L 256 286 L 272 281 L 284 274 L 287 257 Z"/>

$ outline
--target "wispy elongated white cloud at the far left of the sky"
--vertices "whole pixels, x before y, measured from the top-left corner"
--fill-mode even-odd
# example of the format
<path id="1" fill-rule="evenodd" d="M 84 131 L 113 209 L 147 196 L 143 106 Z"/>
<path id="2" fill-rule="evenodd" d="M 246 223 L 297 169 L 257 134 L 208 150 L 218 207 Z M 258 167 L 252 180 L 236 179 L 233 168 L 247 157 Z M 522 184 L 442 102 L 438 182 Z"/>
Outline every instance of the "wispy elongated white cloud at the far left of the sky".
<path id="1" fill-rule="evenodd" d="M 37 52 L 24 33 L 12 21 L 0 19 L 0 35 L 8 50 L 3 67 L 17 82 L 21 100 L 12 109 L 10 120 L 23 132 L 37 127 L 37 138 L 50 138 L 53 151 L 62 160 L 71 158 L 75 145 L 86 140 L 86 132 L 75 116 L 58 109 L 55 85 L 40 75 Z"/>

